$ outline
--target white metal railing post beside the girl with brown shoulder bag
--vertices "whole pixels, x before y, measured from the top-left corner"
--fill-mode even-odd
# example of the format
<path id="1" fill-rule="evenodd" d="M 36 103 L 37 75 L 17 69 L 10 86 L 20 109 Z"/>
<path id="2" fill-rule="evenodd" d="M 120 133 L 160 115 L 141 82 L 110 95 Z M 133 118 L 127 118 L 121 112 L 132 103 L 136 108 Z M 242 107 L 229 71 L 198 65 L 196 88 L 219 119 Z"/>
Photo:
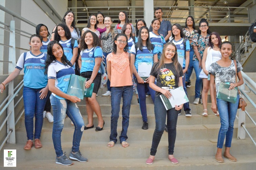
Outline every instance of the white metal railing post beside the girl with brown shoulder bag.
<path id="1" fill-rule="evenodd" d="M 241 90 L 245 90 L 245 83 L 240 86 Z M 245 96 L 241 93 L 242 98 L 245 98 Z M 239 96 L 240 97 L 240 96 Z M 242 111 L 242 109 L 238 109 L 238 129 L 237 129 L 237 139 L 245 139 L 246 131 L 242 127 L 242 125 L 245 126 L 245 111 Z"/>

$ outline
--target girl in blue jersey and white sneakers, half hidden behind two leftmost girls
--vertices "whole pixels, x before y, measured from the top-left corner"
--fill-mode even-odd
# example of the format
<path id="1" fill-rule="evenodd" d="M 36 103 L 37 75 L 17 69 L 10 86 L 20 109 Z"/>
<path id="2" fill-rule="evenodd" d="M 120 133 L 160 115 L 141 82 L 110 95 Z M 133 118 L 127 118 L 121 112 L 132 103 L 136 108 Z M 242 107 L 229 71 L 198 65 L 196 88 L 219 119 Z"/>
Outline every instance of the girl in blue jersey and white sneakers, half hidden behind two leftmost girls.
<path id="1" fill-rule="evenodd" d="M 40 51 L 43 52 L 47 57 L 47 45 L 50 42 L 50 40 L 48 39 L 48 37 L 50 36 L 48 28 L 44 24 L 38 24 L 35 28 L 35 33 L 43 38 L 43 45 L 41 46 Z M 47 98 L 45 104 L 44 118 L 47 117 L 49 122 L 53 122 L 53 116 L 51 114 L 51 102 L 49 97 Z"/>

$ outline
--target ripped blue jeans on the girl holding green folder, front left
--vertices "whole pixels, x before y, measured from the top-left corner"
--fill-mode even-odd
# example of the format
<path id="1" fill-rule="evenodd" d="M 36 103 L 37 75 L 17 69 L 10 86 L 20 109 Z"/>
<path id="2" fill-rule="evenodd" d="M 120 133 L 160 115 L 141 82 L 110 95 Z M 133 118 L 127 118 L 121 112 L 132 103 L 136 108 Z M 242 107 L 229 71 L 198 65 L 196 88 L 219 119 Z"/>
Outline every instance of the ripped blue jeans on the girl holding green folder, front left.
<path id="1" fill-rule="evenodd" d="M 52 128 L 52 140 L 57 157 L 63 155 L 61 148 L 61 132 L 64 127 L 64 121 L 66 114 L 74 123 L 75 131 L 73 135 L 72 152 L 79 150 L 80 141 L 84 130 L 84 122 L 82 115 L 77 107 L 76 103 L 72 103 L 67 99 L 58 99 L 55 96 L 50 96 L 52 110 L 53 110 L 53 128 Z"/>

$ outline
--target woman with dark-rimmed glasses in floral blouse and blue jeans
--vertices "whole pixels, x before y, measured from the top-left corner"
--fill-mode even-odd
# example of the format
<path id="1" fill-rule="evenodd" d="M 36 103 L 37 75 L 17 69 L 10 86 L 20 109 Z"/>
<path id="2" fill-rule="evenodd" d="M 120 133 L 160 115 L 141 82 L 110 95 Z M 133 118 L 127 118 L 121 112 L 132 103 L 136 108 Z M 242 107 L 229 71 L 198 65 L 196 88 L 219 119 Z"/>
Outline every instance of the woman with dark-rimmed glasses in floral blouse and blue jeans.
<path id="1" fill-rule="evenodd" d="M 191 42 L 195 52 L 193 56 L 193 67 L 196 72 L 195 101 L 193 104 L 198 104 L 200 100 L 202 79 L 199 78 L 199 74 L 202 70 L 202 57 L 205 48 L 208 47 L 210 33 L 208 22 L 205 19 L 201 19 L 199 22 L 199 31 L 193 36 Z"/>

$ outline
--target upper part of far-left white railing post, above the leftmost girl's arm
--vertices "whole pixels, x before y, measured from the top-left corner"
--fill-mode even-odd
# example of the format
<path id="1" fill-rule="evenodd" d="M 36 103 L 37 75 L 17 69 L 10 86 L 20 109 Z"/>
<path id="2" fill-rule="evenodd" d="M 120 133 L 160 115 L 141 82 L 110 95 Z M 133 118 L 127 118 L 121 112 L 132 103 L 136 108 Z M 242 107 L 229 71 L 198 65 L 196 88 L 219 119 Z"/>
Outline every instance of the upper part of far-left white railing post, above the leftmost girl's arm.
<path id="1" fill-rule="evenodd" d="M 9 47 L 9 60 L 11 63 L 9 63 L 8 72 L 9 74 L 12 73 L 16 66 L 16 51 L 15 51 L 15 21 L 11 21 L 10 23 L 10 40 L 9 45 L 12 47 Z"/>

